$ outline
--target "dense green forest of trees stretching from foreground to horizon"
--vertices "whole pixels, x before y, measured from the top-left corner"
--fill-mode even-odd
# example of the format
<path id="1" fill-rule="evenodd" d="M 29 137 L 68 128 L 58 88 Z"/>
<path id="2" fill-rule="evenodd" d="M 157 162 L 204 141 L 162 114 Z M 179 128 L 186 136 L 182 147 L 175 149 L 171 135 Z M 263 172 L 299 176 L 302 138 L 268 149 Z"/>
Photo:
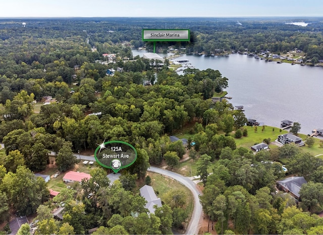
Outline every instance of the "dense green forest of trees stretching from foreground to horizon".
<path id="1" fill-rule="evenodd" d="M 136 180 L 146 179 L 150 164 L 179 165 L 186 149 L 169 135 L 186 128 L 194 134 L 187 150 L 203 182 L 200 201 L 204 213 L 217 221 L 218 233 L 323 233 L 323 220 L 314 213 L 323 203 L 322 160 L 293 145 L 257 154 L 237 146 L 235 139 L 250 131 L 244 113 L 226 99 L 211 100 L 214 92 L 228 87 L 228 78 L 211 69 L 186 69 L 178 75 L 167 60 L 158 67 L 155 61 L 133 58 L 130 48 L 144 46 L 142 28 L 167 23 L 168 28 L 192 31 L 191 42 L 173 44 L 187 52 L 285 52 L 297 47 L 308 58 L 323 59 L 320 19 L 301 28 L 285 21 L 0 20 L 0 141 L 5 146 L 0 152 L 0 220 L 12 211 L 37 213 L 38 234 L 82 234 L 97 226 L 97 234 L 166 234 L 182 228 L 188 218 L 182 192 L 171 192 L 163 207 L 148 216 L 135 188 Z M 113 61 L 104 53 L 115 54 Z M 112 69 L 113 76 L 107 73 Z M 150 85 L 144 86 L 145 81 Z M 51 103 L 42 105 L 48 97 Z M 122 172 L 120 183 L 109 186 L 106 172 L 93 169 L 90 180 L 48 201 L 45 182 L 32 173 L 53 164 L 48 153 L 54 152 L 55 164 L 64 172 L 77 163 L 73 152 L 94 150 L 103 140 L 125 141 L 137 149 L 137 160 Z M 285 176 L 283 158 L 289 173 L 309 181 L 299 204 L 275 194 L 275 182 Z M 216 164 L 209 174 L 211 162 Z M 50 211 L 62 204 L 65 213 L 59 222 Z"/>

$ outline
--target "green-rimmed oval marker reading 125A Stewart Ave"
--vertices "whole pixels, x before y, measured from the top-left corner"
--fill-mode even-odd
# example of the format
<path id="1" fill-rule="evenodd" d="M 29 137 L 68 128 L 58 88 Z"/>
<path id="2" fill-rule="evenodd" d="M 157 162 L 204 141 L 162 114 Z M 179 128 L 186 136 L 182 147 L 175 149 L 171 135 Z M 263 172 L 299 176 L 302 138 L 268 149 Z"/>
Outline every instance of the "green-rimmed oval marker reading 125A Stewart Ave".
<path id="1" fill-rule="evenodd" d="M 112 169 L 115 173 L 133 164 L 137 159 L 137 151 L 123 141 L 108 141 L 100 144 L 94 152 L 97 163 Z"/>

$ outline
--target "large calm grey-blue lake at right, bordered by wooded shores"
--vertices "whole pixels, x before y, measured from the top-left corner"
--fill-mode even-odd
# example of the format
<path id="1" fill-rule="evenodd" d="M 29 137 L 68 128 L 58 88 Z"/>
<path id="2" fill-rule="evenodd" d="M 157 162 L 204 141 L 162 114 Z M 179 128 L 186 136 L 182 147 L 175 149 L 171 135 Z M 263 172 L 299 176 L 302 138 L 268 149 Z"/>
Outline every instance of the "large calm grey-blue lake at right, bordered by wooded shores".
<path id="1" fill-rule="evenodd" d="M 143 53 L 140 51 L 140 55 Z M 133 50 L 133 54 L 139 53 Z M 243 105 L 246 117 L 261 125 L 280 127 L 281 121 L 287 119 L 299 122 L 303 134 L 323 129 L 322 67 L 277 64 L 241 54 L 180 58 L 199 70 L 219 70 L 229 79 L 226 91 L 233 97 L 229 101 L 234 106 Z"/>

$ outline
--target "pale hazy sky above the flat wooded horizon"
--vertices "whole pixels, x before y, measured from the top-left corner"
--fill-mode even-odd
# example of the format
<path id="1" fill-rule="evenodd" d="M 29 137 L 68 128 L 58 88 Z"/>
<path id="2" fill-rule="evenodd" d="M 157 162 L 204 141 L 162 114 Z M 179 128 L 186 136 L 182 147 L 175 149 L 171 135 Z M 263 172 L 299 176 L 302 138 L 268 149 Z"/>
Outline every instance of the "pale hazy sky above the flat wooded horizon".
<path id="1" fill-rule="evenodd" d="M 0 0 L 0 17 L 323 16 L 322 0 Z"/>

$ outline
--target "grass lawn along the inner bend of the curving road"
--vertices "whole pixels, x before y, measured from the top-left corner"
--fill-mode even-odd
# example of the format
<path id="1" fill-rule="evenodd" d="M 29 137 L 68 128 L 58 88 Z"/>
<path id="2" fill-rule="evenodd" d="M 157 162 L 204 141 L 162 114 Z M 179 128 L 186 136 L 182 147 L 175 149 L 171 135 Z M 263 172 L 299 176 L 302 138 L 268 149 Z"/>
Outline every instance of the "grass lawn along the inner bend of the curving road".
<path id="1" fill-rule="evenodd" d="M 186 211 L 189 214 L 188 218 L 190 218 L 193 212 L 194 201 L 191 191 L 189 191 L 189 189 L 179 182 L 173 180 L 172 178 L 165 177 L 164 175 L 152 172 L 148 172 L 148 175 L 151 178 L 151 187 L 153 187 L 155 192 L 158 192 L 158 197 L 161 199 L 161 201 L 164 200 L 165 195 L 170 190 L 182 190 L 185 192 L 185 195 L 187 195 Z"/>

